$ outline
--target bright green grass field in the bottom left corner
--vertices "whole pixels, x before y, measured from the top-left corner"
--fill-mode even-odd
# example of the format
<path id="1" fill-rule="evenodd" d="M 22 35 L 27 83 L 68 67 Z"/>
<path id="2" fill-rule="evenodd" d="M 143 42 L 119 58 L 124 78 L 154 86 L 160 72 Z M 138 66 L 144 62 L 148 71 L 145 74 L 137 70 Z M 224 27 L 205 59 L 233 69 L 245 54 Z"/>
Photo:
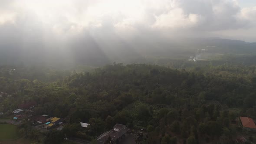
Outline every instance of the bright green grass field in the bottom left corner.
<path id="1" fill-rule="evenodd" d="M 13 140 L 18 138 L 18 130 L 12 124 L 0 124 L 0 141 Z"/>

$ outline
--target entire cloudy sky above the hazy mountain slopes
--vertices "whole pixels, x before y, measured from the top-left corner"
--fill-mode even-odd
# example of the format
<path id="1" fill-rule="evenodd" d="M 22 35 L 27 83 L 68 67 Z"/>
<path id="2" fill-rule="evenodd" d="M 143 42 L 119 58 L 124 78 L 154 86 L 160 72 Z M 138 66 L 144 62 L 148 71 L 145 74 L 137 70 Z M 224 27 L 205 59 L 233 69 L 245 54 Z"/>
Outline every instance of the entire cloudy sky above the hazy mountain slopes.
<path id="1" fill-rule="evenodd" d="M 0 49 L 136 48 L 132 40 L 206 37 L 256 42 L 255 33 L 255 0 L 0 0 Z"/>

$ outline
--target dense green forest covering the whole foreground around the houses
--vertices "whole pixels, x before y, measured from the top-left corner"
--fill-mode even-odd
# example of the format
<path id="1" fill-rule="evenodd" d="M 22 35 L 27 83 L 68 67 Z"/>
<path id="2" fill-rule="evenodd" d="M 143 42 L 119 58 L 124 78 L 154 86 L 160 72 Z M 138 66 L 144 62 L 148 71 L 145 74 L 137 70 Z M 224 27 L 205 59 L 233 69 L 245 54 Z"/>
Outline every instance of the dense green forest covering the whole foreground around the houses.
<path id="1" fill-rule="evenodd" d="M 240 135 L 256 143 L 236 122 L 256 119 L 256 65 L 219 61 L 114 62 L 84 72 L 2 65 L 0 92 L 12 97 L 0 98 L 0 112 L 8 117 L 33 100 L 33 115 L 64 118 L 62 131 L 49 132 L 23 119 L 19 132 L 33 144 L 61 144 L 64 137 L 93 144 L 116 123 L 143 130 L 138 144 L 234 144 Z M 90 125 L 81 129 L 80 122 Z"/>

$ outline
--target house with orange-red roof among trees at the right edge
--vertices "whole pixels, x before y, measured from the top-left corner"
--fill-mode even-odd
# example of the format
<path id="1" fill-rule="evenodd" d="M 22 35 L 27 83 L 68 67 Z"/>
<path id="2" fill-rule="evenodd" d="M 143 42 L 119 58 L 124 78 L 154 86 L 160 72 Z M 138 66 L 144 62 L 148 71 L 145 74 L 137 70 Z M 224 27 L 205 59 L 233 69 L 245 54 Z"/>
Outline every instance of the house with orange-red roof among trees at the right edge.
<path id="1" fill-rule="evenodd" d="M 256 125 L 252 118 L 248 117 L 239 117 L 240 119 L 240 126 L 247 131 L 255 131 L 256 132 Z"/>

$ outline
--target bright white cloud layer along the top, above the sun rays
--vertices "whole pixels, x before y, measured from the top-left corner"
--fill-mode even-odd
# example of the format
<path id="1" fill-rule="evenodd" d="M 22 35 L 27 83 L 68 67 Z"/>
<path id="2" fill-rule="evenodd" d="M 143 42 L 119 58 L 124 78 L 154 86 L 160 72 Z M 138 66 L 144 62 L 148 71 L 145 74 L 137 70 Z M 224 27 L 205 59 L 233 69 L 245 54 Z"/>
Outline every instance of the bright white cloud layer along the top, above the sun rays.
<path id="1" fill-rule="evenodd" d="M 2 0 L 0 26 L 15 23 L 56 35 L 102 28 L 119 34 L 141 28 L 211 33 L 254 29 L 256 7 L 240 8 L 237 0 Z"/>

